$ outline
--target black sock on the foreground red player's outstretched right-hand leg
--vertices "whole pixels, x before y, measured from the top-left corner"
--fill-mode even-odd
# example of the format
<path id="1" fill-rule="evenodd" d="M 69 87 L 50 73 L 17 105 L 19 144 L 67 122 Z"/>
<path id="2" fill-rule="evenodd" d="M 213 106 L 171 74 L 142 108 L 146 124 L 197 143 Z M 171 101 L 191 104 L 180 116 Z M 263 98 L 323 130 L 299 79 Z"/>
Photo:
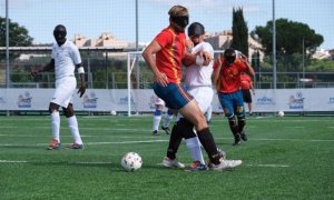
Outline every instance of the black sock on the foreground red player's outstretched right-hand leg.
<path id="1" fill-rule="evenodd" d="M 207 156 L 214 164 L 219 164 L 220 156 L 217 152 L 217 146 L 215 143 L 214 137 L 208 128 L 197 131 L 198 139 L 204 147 Z"/>

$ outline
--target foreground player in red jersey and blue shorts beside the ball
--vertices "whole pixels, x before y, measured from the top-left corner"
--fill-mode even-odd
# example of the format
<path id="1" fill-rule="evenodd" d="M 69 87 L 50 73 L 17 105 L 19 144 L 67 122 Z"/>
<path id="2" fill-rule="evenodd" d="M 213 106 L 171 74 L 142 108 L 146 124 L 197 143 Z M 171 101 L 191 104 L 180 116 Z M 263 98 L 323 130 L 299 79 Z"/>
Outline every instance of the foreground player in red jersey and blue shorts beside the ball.
<path id="1" fill-rule="evenodd" d="M 147 62 L 148 67 L 154 73 L 154 91 L 166 102 L 166 107 L 175 109 L 180 112 L 186 120 L 187 126 L 195 126 L 198 134 L 198 139 L 206 150 L 210 167 L 214 170 L 223 170 L 227 168 L 234 168 L 242 163 L 240 160 L 223 160 L 217 151 L 215 140 L 206 122 L 206 118 L 200 111 L 195 99 L 180 87 L 181 79 L 181 64 L 191 63 L 196 60 L 197 54 L 190 54 L 186 52 L 186 36 L 185 28 L 189 22 L 188 10 L 181 6 L 174 6 L 168 11 L 169 26 L 164 29 L 158 36 L 151 41 L 151 43 L 143 52 L 143 57 Z M 155 56 L 155 57 L 154 57 Z M 184 164 L 179 163 L 175 157 L 177 147 L 181 141 L 181 137 L 175 134 L 173 128 L 168 151 L 170 157 L 165 158 L 163 161 L 165 166 L 174 166 L 177 168 L 184 168 Z"/>

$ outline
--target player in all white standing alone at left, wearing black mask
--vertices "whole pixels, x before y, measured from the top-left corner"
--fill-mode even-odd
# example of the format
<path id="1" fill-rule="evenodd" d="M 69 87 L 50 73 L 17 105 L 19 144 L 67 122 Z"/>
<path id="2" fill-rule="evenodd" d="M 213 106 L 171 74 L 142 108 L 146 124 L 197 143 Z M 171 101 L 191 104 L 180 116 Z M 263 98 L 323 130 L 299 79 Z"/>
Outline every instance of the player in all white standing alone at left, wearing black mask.
<path id="1" fill-rule="evenodd" d="M 75 116 L 71 98 L 77 88 L 77 79 L 75 77 L 75 69 L 78 69 L 80 76 L 80 88 L 78 93 L 80 98 L 86 91 L 85 70 L 81 66 L 81 57 L 78 48 L 66 38 L 66 27 L 62 24 L 56 26 L 53 37 L 56 43 L 52 46 L 51 60 L 43 67 L 31 71 L 35 77 L 39 72 L 55 70 L 56 74 L 56 90 L 49 104 L 49 112 L 51 114 L 52 140 L 49 143 L 49 150 L 57 150 L 60 148 L 60 116 L 59 108 L 62 108 L 63 114 L 68 120 L 68 127 L 73 137 L 71 149 L 82 149 L 84 143 L 80 137 L 78 121 Z"/>

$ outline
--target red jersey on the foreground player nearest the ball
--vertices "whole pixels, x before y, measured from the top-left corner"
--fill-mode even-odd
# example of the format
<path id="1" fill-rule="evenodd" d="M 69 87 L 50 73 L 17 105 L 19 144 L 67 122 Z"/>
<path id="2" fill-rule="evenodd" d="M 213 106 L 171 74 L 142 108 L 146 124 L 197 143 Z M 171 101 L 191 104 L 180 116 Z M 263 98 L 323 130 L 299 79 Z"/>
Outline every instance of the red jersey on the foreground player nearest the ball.
<path id="1" fill-rule="evenodd" d="M 184 32 L 175 32 L 171 27 L 164 29 L 155 39 L 161 47 L 156 53 L 156 64 L 161 73 L 165 73 L 171 83 L 180 83 L 181 60 L 186 52 L 186 36 Z"/>

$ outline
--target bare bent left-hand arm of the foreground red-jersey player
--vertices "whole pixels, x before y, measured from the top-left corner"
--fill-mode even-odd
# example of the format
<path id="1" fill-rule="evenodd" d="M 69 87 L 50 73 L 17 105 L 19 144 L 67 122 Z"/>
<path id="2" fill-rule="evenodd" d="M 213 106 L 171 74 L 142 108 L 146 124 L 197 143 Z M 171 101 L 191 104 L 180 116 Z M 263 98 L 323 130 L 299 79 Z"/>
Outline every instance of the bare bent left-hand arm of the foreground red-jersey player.
<path id="1" fill-rule="evenodd" d="M 165 73 L 160 73 L 156 66 L 156 61 L 154 54 L 161 50 L 160 44 L 154 40 L 143 52 L 143 58 L 145 59 L 146 63 L 148 64 L 149 69 L 154 73 L 154 79 L 161 86 L 167 86 L 168 79 Z"/>

